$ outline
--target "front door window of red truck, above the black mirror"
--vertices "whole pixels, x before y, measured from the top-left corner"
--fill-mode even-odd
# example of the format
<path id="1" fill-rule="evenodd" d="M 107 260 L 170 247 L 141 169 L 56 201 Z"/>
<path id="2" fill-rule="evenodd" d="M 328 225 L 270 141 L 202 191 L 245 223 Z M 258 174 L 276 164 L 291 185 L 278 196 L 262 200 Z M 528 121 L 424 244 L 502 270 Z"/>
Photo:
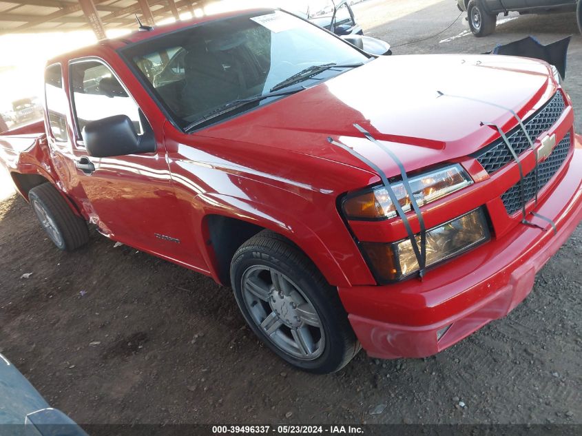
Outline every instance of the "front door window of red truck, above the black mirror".
<path id="1" fill-rule="evenodd" d="M 138 105 L 107 66 L 97 61 L 74 63 L 70 76 L 79 135 L 87 123 L 114 115 L 127 115 L 136 132 L 143 134 Z"/>

